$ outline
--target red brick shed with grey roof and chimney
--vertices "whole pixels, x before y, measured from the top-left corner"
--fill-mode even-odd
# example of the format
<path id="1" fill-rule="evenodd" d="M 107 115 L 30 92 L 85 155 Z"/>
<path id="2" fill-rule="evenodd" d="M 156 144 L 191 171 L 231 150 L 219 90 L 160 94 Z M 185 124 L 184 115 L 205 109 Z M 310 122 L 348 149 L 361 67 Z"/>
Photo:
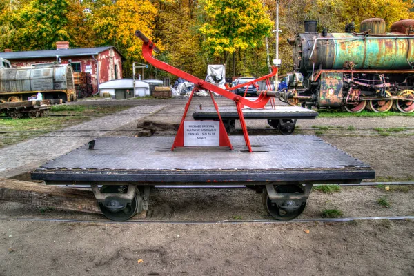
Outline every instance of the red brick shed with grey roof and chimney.
<path id="1" fill-rule="evenodd" d="M 56 46 L 56 50 L 23 52 L 6 49 L 0 52 L 0 57 L 8 59 L 13 67 L 55 61 L 66 64 L 71 61 L 74 72 L 90 72 L 94 94 L 98 92 L 99 83 L 122 78 L 124 57 L 114 46 L 71 49 L 66 41 L 59 41 Z"/>

